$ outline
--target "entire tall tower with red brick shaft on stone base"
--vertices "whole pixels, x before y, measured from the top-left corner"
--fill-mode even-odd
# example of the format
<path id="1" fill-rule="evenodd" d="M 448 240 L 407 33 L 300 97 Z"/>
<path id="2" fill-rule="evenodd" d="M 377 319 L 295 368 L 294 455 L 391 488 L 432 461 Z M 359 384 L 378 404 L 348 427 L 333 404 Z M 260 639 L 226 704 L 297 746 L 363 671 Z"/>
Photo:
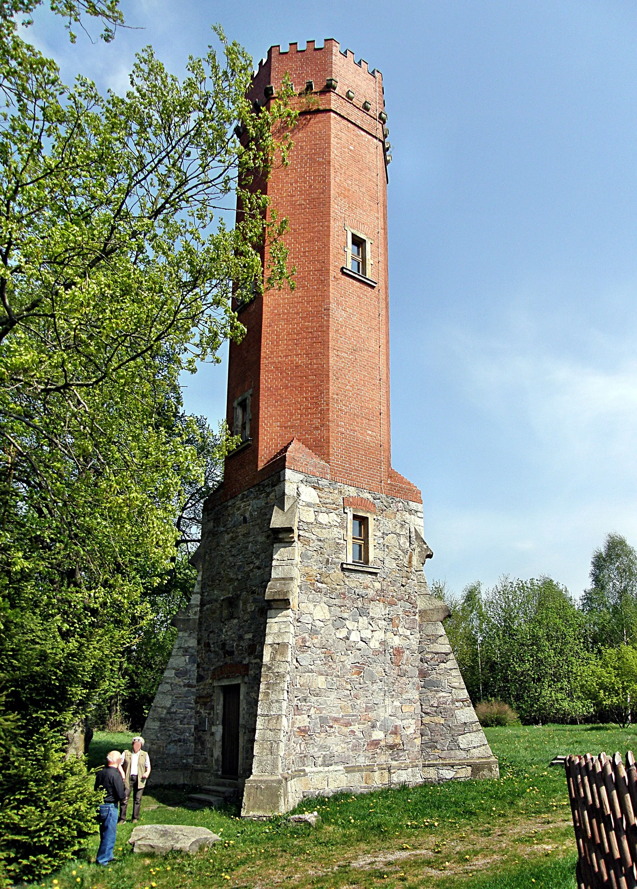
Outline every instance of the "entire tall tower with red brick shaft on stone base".
<path id="1" fill-rule="evenodd" d="M 145 727 L 155 781 L 243 789 L 251 816 L 498 774 L 423 573 L 420 492 L 391 466 L 382 76 L 334 40 L 275 46 L 251 100 L 286 73 L 299 121 L 267 193 L 297 286 L 239 309 L 227 421 L 242 444 L 206 503 Z"/>

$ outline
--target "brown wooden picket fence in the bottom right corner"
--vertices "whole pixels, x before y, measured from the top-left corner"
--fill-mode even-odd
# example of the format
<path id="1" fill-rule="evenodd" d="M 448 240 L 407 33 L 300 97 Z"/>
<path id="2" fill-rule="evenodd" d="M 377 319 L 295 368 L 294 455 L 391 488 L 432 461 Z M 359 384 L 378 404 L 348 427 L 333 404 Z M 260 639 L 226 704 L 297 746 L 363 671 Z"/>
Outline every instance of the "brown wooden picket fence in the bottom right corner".
<path id="1" fill-rule="evenodd" d="M 566 757 L 578 889 L 637 889 L 637 765 L 626 753 Z"/>

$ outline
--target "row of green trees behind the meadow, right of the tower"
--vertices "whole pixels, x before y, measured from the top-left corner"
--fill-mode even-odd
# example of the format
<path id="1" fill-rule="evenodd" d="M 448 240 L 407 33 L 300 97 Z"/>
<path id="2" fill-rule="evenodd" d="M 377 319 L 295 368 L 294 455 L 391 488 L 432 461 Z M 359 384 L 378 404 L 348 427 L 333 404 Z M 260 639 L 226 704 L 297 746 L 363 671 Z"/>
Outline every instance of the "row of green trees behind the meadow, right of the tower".
<path id="1" fill-rule="evenodd" d="M 472 701 L 498 698 L 523 722 L 599 719 L 625 723 L 637 701 L 637 552 L 611 533 L 593 552 L 579 608 L 550 578 L 493 589 L 469 584 L 451 608 L 450 645 Z"/>

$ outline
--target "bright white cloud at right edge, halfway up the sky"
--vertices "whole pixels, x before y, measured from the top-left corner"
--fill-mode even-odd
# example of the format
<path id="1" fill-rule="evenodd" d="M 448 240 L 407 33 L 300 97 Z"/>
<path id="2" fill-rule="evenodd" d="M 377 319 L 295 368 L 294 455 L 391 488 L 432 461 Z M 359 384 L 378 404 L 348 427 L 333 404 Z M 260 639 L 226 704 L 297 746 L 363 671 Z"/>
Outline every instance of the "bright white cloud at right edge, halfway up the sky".
<path id="1" fill-rule="evenodd" d="M 517 336 L 515 335 L 517 333 Z M 572 356 L 533 332 L 502 330 L 498 340 L 454 331 L 455 361 L 466 398 L 503 428 L 531 436 L 547 467 L 614 472 L 637 479 L 637 360 L 626 356 L 633 331 Z"/>

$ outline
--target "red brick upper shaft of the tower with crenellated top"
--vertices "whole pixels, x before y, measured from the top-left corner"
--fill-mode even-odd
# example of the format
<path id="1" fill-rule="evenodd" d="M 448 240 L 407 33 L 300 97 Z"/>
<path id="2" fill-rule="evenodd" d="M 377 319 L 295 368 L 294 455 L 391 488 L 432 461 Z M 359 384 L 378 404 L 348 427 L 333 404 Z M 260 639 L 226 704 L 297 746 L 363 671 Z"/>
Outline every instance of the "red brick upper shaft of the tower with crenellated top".
<path id="1" fill-rule="evenodd" d="M 291 465 L 292 452 L 273 458 L 296 437 L 332 479 L 419 501 L 418 489 L 391 469 L 382 76 L 333 40 L 322 49 L 313 42 L 302 51 L 274 46 L 259 64 L 251 98 L 263 104 L 264 87 L 278 89 L 286 72 L 297 92 L 308 80 L 315 84 L 311 102 L 295 100 L 291 163 L 267 183 L 273 206 L 290 219 L 286 243 L 297 286 L 267 292 L 241 314 L 248 333 L 230 346 L 227 420 L 232 426 L 233 402 L 251 388 L 252 445 L 227 459 L 221 496 L 256 484 L 281 460 Z M 338 80 L 336 91 L 325 88 L 328 77 Z M 340 270 L 345 226 L 372 242 L 375 288 Z"/>

